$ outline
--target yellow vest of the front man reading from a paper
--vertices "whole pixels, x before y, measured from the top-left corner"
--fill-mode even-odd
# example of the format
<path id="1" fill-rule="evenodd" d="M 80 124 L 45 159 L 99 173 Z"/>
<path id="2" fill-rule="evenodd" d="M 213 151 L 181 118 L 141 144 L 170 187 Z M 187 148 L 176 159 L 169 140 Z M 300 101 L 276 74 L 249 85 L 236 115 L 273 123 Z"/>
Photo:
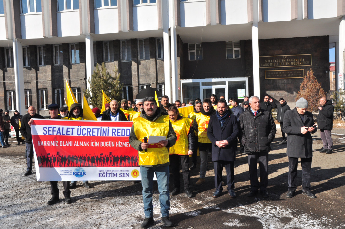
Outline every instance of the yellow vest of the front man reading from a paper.
<path id="1" fill-rule="evenodd" d="M 135 118 L 133 120 L 134 133 L 139 141 L 144 142 L 144 137 L 164 136 L 168 137 L 169 116 L 160 116 L 156 121 L 150 122 L 147 119 Z M 156 143 L 151 144 L 145 150 L 138 151 L 139 165 L 161 165 L 169 162 L 169 150 L 167 147 Z"/>

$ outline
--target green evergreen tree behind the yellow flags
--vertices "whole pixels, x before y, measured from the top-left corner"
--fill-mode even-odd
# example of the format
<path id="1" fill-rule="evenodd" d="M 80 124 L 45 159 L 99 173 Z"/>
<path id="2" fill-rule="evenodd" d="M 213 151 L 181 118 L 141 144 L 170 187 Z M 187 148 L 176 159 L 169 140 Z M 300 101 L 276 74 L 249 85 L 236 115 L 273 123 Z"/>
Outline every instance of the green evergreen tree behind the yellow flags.
<path id="1" fill-rule="evenodd" d="M 91 85 L 91 90 L 83 90 L 83 92 L 88 103 L 93 107 L 102 108 L 102 90 L 109 99 L 121 100 L 123 84 L 120 83 L 120 73 L 118 73 L 116 66 L 114 69 L 114 76 L 112 76 L 109 71 L 107 71 L 104 62 L 101 68 L 99 68 L 99 64 L 97 64 L 96 69 L 93 70 L 89 83 Z"/>

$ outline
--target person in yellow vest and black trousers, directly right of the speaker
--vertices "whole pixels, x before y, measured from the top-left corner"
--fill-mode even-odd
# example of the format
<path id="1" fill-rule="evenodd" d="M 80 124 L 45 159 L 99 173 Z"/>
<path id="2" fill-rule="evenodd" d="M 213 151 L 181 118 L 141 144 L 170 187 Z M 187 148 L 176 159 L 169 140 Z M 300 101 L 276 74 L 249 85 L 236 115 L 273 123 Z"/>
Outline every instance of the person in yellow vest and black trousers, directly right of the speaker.
<path id="1" fill-rule="evenodd" d="M 171 106 L 168 110 L 169 119 L 172 128 L 177 136 L 176 144 L 169 148 L 169 160 L 172 169 L 172 177 L 174 178 L 174 190 L 170 192 L 171 196 L 175 196 L 180 192 L 180 161 L 182 167 L 182 176 L 185 183 L 185 193 L 187 197 L 193 197 L 190 192 L 189 185 L 189 155 L 193 155 L 194 149 L 194 130 L 192 128 L 193 120 L 179 115 L 178 109 Z"/>

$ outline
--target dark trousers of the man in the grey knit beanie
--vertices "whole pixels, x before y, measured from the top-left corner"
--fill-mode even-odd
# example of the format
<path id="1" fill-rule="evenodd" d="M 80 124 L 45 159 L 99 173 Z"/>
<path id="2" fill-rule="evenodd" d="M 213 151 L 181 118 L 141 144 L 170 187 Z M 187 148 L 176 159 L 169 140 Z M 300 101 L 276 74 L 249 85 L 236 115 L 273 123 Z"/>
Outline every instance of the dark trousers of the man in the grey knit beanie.
<path id="1" fill-rule="evenodd" d="M 296 191 L 296 177 L 298 158 L 289 158 L 289 176 L 288 176 L 288 189 L 289 191 Z M 302 166 L 302 188 L 303 191 L 310 191 L 310 170 L 312 168 L 312 157 L 301 158 Z"/>

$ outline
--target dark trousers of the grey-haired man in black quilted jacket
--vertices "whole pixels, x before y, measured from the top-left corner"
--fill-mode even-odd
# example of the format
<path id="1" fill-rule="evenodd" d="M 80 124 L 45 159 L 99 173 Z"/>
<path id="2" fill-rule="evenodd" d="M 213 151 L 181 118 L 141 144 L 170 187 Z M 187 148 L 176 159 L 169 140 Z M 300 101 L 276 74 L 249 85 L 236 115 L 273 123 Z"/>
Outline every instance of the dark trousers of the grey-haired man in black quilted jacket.
<path id="1" fill-rule="evenodd" d="M 257 161 L 259 159 L 260 166 L 260 183 L 257 176 Z M 253 154 L 248 154 L 248 165 L 249 165 L 249 177 L 250 186 L 252 190 L 257 191 L 266 190 L 268 185 L 268 151 L 260 151 Z"/>

